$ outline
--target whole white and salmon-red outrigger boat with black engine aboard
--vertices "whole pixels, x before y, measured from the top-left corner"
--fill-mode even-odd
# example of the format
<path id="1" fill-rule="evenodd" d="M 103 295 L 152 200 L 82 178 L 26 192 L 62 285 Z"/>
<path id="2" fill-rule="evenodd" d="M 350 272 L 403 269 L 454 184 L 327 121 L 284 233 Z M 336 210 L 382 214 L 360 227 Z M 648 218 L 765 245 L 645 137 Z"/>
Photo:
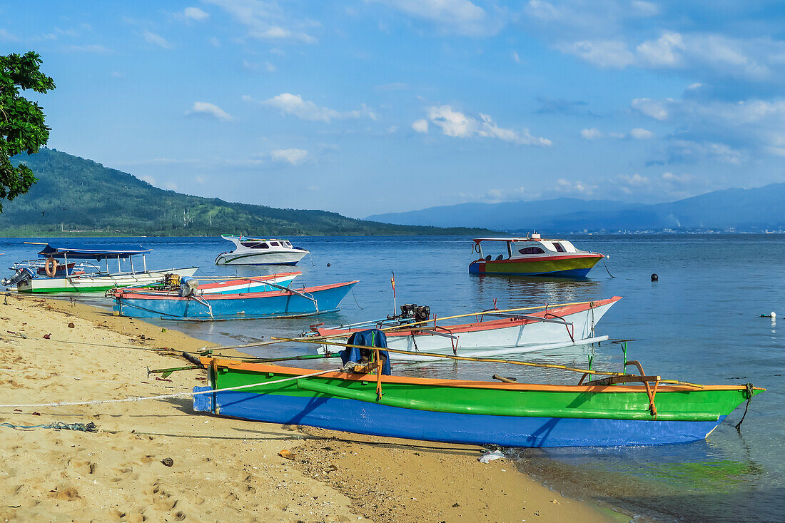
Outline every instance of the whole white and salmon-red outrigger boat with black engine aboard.
<path id="1" fill-rule="evenodd" d="M 307 335 L 342 342 L 356 331 L 375 326 L 385 331 L 390 349 L 411 353 L 396 355 L 401 360 L 433 359 L 418 355 L 419 352 L 466 357 L 528 353 L 606 341 L 608 336 L 597 335 L 595 327 L 620 299 L 621 296 L 614 296 L 595 302 L 490 309 L 448 316 L 442 320 L 436 316 L 432 318 L 429 307 L 402 305 L 400 316 L 338 327 L 312 325 L 312 332 Z M 443 323 L 444 320 L 466 317 L 474 317 L 475 321 L 470 324 Z M 327 344 L 316 347 L 319 353 L 333 349 Z"/>

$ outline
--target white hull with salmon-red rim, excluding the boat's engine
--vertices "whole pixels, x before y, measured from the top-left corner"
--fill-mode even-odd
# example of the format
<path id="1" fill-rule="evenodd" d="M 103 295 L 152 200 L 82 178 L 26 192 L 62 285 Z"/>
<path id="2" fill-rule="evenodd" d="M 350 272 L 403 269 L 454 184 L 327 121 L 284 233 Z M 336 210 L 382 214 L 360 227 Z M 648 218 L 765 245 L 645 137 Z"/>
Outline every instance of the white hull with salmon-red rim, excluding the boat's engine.
<path id="1" fill-rule="evenodd" d="M 466 357 L 484 357 L 505 353 L 525 353 L 542 349 L 555 349 L 568 346 L 582 346 L 587 343 L 604 341 L 607 337 L 597 338 L 595 328 L 616 302 L 619 296 L 598 300 L 597 302 L 577 305 L 566 305 L 548 309 L 550 319 L 558 318 L 573 327 L 564 324 L 550 323 L 531 319 L 485 320 L 473 324 L 439 326 L 433 334 L 433 324 L 425 324 L 422 331 L 389 331 L 386 333 L 387 346 L 390 349 L 406 350 L 410 354 L 400 354 L 400 360 L 429 360 L 433 358 L 418 355 L 418 352 L 458 354 Z M 542 311 L 531 316 L 544 316 Z M 360 329 L 362 330 L 362 329 Z M 340 329 L 319 328 L 318 334 L 323 336 L 339 335 Z M 445 335 L 452 335 L 449 338 Z M 348 338 L 348 335 L 347 337 Z M 336 338 L 335 341 L 346 338 Z M 456 339 L 457 338 L 457 339 Z M 335 352 L 335 347 L 316 346 L 319 353 Z"/>

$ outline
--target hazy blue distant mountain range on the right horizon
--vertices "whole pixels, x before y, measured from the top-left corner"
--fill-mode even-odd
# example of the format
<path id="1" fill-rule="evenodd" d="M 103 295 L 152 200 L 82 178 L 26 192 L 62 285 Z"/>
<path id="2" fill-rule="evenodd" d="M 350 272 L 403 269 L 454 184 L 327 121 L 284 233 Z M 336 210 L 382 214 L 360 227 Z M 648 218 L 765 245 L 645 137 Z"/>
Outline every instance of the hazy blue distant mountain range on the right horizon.
<path id="1" fill-rule="evenodd" d="M 400 225 L 472 226 L 506 231 L 777 230 L 785 227 L 785 183 L 729 188 L 670 203 L 573 198 L 460 203 L 405 213 L 374 214 L 367 219 Z"/>

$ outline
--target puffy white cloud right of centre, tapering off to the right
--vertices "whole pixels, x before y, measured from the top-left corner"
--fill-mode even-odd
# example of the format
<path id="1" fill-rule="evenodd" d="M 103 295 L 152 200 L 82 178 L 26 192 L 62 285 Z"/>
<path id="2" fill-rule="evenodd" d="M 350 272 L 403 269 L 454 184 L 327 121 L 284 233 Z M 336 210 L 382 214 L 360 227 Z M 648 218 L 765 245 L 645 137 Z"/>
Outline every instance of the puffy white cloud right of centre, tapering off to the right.
<path id="1" fill-rule="evenodd" d="M 480 119 L 475 119 L 462 112 L 455 111 L 449 105 L 429 107 L 426 109 L 426 115 L 430 123 L 440 127 L 445 135 L 451 137 L 468 138 L 480 136 L 498 138 L 513 144 L 543 146 L 552 144 L 547 138 L 531 136 L 528 129 L 522 131 L 504 129 L 497 126 L 488 115 L 480 113 Z"/>

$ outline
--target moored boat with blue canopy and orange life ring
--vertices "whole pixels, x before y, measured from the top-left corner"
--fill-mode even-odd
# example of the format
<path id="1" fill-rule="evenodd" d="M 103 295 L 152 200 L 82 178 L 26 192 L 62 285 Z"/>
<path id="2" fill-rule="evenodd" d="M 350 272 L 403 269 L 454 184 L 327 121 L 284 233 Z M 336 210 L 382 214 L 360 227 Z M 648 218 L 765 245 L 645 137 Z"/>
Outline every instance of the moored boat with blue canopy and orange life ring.
<path id="1" fill-rule="evenodd" d="M 19 292 L 98 292 L 113 287 L 142 287 L 162 281 L 167 274 L 193 276 L 199 269 L 148 271 L 146 254 L 151 250 L 141 246 L 25 243 L 44 247 L 38 258 L 14 263 L 9 267 L 13 276 L 0 282 Z M 138 262 L 137 267 L 133 266 L 134 257 L 139 256 L 141 270 Z"/>

